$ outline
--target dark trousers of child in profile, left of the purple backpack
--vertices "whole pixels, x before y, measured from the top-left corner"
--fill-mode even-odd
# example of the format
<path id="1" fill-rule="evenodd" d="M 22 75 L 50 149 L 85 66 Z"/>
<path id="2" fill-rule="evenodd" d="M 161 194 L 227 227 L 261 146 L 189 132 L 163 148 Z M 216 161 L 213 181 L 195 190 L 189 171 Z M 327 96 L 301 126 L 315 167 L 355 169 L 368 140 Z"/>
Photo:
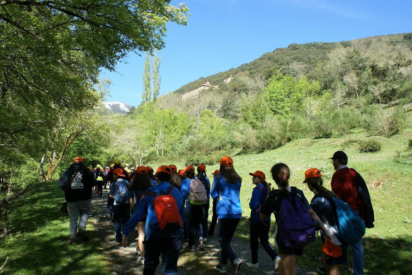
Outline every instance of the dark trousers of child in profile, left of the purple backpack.
<path id="1" fill-rule="evenodd" d="M 274 260 L 278 254 L 273 249 L 273 246 L 269 243 L 269 229 L 270 220 L 262 221 L 259 223 L 250 224 L 250 250 L 252 251 L 252 263 L 258 263 L 258 247 L 259 240 L 265 249 L 266 253 Z"/>

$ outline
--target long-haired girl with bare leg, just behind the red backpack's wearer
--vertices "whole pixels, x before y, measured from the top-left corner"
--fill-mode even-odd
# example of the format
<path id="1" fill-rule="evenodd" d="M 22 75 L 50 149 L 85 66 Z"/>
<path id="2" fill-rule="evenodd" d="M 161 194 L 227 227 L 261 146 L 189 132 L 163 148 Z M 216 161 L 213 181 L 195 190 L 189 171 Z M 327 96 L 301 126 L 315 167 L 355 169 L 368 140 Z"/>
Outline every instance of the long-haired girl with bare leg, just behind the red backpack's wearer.
<path id="1" fill-rule="evenodd" d="M 134 210 L 134 206 L 137 205 L 147 188 L 153 186 L 152 180 L 147 173 L 147 167 L 138 166 L 136 168 L 136 174 L 133 176 L 129 186 L 129 203 L 131 210 Z M 143 241 L 145 240 L 145 222 L 138 222 L 137 231 L 139 234 L 139 246 L 137 253 L 140 255 L 138 263 L 145 263 L 145 247 Z"/>

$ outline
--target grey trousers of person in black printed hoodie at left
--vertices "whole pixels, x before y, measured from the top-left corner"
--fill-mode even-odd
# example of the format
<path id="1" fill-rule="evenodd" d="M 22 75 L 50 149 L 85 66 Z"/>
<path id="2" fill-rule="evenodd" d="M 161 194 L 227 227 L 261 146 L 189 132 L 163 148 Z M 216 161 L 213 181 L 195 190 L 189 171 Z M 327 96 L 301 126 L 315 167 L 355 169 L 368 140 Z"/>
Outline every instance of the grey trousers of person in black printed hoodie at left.
<path id="1" fill-rule="evenodd" d="M 90 208 L 91 200 L 72 201 L 67 203 L 67 211 L 69 212 L 70 217 L 71 239 L 75 239 L 77 237 L 77 227 L 79 227 L 80 232 L 84 232 L 86 230 L 87 218 L 89 218 Z M 77 221 L 79 222 L 78 224 Z"/>

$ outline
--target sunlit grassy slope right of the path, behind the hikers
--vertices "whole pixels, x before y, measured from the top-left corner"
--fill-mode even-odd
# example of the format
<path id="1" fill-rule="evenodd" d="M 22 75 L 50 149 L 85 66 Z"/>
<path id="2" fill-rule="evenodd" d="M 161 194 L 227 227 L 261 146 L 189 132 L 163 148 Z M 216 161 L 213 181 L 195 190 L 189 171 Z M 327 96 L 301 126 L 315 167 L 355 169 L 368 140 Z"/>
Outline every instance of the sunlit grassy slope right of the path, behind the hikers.
<path id="1" fill-rule="evenodd" d="M 412 125 L 409 116 L 407 125 Z M 362 130 L 335 139 L 299 139 L 287 143 L 276 150 L 262 154 L 248 154 L 233 157 L 236 171 L 243 178 L 241 204 L 244 219 L 238 226 L 239 236 L 247 238 L 250 215 L 249 200 L 253 185 L 249 172 L 261 170 L 266 173 L 268 182 L 270 168 L 277 162 L 286 163 L 291 170 L 290 183 L 302 189 L 311 200 L 304 180 L 304 171 L 311 167 L 323 170 L 324 186 L 330 188 L 334 172 L 329 157 L 337 150 L 344 150 L 349 156 L 349 167 L 356 169 L 368 183 L 375 210 L 375 227 L 367 229 L 363 239 L 365 248 L 365 269 L 369 274 L 409 274 L 412 270 L 412 150 L 407 142 L 412 139 L 412 128 L 403 129 L 389 139 L 376 137 L 382 142 L 377 153 L 359 153 L 357 140 L 365 138 Z M 349 144 L 344 146 L 344 144 Z M 398 155 L 396 151 L 400 151 Z M 175 163 L 178 169 L 183 163 Z M 196 164 L 194 164 L 196 165 Z M 157 164 L 153 164 L 157 167 Z M 208 173 L 219 169 L 218 165 L 208 166 Z M 211 177 L 210 177 L 211 178 Z M 211 215 L 209 215 L 211 217 Z M 274 219 L 272 219 L 272 234 Z M 273 239 L 272 239 L 273 240 Z M 305 248 L 305 254 L 297 262 L 308 270 L 314 270 L 321 257 L 320 241 Z M 386 259 L 383 261 L 383 259 Z M 349 253 L 348 263 L 351 263 Z"/>

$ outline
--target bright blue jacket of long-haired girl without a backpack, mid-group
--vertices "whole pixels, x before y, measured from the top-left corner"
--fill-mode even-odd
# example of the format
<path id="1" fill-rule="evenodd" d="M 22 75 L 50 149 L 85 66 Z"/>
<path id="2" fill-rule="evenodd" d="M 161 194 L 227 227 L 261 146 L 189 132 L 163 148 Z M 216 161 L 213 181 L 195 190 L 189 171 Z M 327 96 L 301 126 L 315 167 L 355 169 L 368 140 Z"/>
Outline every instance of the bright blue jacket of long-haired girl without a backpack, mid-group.
<path id="1" fill-rule="evenodd" d="M 225 178 L 217 175 L 213 180 L 211 196 L 219 198 L 216 203 L 216 213 L 219 219 L 235 219 L 242 216 L 240 205 L 240 187 L 242 183 L 227 183 Z"/>

